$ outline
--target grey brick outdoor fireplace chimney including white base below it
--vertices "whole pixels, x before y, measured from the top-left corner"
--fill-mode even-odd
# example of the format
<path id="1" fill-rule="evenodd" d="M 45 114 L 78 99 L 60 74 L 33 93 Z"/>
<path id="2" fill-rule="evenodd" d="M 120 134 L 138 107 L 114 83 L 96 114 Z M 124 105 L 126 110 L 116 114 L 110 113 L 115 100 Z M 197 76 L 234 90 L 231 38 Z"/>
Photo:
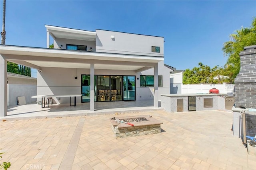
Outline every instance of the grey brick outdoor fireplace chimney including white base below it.
<path id="1" fill-rule="evenodd" d="M 242 137 L 242 111 L 256 108 L 256 45 L 244 47 L 240 52 L 240 72 L 235 83 L 233 135 Z"/>

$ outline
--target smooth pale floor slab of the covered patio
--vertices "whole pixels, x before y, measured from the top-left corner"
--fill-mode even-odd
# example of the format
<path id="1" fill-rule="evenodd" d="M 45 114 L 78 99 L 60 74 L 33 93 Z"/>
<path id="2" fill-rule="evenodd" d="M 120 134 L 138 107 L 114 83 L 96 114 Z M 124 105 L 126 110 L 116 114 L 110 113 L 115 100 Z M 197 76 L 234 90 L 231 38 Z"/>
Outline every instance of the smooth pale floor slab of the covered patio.
<path id="1" fill-rule="evenodd" d="M 26 104 L 21 106 L 8 106 L 7 115 L 0 120 L 37 119 L 50 117 L 70 117 L 101 114 L 119 114 L 137 111 L 164 110 L 162 107 L 154 107 L 153 100 L 127 101 L 127 102 L 96 102 L 95 111 L 90 111 L 90 103 L 80 103 L 76 107 L 69 104 L 53 104 L 50 107 L 41 108 L 38 104 Z"/>

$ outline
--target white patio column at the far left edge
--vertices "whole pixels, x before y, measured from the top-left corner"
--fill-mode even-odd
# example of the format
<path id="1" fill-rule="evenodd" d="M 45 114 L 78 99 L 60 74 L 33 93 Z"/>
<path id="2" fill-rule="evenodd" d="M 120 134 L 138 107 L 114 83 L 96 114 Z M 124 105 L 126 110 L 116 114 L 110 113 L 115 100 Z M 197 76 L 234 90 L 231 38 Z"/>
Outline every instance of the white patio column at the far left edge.
<path id="1" fill-rule="evenodd" d="M 7 61 L 0 55 L 0 117 L 7 116 Z"/>

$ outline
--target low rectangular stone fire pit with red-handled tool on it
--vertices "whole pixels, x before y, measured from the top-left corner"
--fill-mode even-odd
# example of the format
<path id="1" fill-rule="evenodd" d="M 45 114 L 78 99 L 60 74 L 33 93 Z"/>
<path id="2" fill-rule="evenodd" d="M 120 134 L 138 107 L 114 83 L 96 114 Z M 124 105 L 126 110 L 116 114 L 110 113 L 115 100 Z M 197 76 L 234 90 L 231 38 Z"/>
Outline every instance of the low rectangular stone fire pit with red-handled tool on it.
<path id="1" fill-rule="evenodd" d="M 117 121 L 110 119 L 111 128 L 116 138 L 161 133 L 160 125 L 163 123 L 153 117 L 149 117 L 149 115 L 115 118 L 134 124 L 134 126 L 131 126 L 126 123 L 117 123 Z"/>

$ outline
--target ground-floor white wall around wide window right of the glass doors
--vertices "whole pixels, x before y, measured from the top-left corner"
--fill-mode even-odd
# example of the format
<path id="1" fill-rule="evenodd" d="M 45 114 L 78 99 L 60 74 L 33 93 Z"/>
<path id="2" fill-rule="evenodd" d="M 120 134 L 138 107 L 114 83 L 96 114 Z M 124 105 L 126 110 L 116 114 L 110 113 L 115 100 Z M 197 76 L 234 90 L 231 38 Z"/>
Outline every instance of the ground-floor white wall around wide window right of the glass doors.
<path id="1" fill-rule="evenodd" d="M 154 69 L 145 70 L 136 74 L 136 100 L 154 100 L 154 87 L 140 87 L 140 75 L 154 75 Z M 164 66 L 164 61 L 158 63 L 158 75 L 163 76 L 163 87 L 158 88 L 158 100 L 161 94 L 170 94 L 170 69 Z"/>

